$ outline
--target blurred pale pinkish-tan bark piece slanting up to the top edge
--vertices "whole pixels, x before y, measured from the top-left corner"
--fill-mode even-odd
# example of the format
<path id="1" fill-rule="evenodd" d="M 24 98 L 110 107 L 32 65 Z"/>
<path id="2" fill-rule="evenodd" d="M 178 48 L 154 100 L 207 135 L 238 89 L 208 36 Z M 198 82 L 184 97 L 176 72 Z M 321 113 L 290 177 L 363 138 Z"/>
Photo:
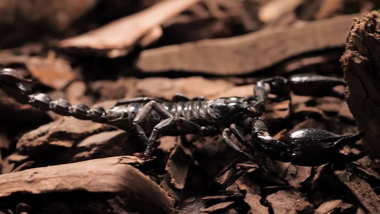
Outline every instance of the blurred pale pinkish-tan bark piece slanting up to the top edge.
<path id="1" fill-rule="evenodd" d="M 98 29 L 62 40 L 59 46 L 103 52 L 110 58 L 124 56 L 140 41 L 143 41 L 144 46 L 154 42 L 161 36 L 161 34 L 155 34 L 157 32 L 155 29 L 199 1 L 161 1 L 146 10 L 118 19 Z M 152 37 L 153 35 L 155 37 Z"/>

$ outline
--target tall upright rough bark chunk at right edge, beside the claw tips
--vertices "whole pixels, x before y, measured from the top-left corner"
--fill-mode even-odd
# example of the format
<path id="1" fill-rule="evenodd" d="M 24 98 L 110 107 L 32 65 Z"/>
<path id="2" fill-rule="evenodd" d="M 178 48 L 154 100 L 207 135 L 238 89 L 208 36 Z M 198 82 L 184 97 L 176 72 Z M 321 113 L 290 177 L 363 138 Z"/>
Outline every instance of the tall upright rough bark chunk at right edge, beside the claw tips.
<path id="1" fill-rule="evenodd" d="M 364 145 L 380 157 L 380 16 L 373 11 L 356 18 L 347 36 L 347 48 L 340 58 L 347 81 L 346 99 L 359 130 L 365 131 Z"/>

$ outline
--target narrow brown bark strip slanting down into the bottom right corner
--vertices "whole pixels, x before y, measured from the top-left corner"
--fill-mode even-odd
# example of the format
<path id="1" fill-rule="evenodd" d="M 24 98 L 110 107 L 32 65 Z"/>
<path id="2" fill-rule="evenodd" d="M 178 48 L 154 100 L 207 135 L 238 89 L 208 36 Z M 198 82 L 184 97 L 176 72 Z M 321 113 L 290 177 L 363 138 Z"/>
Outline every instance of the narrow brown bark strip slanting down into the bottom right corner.
<path id="1" fill-rule="evenodd" d="M 365 180 L 350 169 L 335 171 L 334 175 L 369 213 L 380 213 L 380 199 Z"/>

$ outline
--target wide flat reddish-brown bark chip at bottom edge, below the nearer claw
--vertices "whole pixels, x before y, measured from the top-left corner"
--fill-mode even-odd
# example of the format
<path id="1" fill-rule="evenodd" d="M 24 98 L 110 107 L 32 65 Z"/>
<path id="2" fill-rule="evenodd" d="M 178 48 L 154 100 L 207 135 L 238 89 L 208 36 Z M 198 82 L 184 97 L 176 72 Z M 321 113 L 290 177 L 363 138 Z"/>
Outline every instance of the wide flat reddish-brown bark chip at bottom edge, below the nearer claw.
<path id="1" fill-rule="evenodd" d="M 298 190 L 280 190 L 266 198 L 275 214 L 314 213 L 313 205 Z"/>

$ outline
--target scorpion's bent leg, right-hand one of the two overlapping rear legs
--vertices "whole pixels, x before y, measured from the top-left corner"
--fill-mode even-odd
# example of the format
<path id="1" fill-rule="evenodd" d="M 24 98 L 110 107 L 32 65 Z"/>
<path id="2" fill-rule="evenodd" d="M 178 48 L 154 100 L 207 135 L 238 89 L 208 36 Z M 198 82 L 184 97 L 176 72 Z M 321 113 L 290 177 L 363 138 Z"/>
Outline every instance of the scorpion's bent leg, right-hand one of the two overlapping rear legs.
<path id="1" fill-rule="evenodd" d="M 153 145 L 160 135 L 173 132 L 173 129 L 185 129 L 187 134 L 201 134 L 201 136 L 209 136 L 214 130 L 199 126 L 192 121 L 183 117 L 171 117 L 158 123 L 150 133 L 149 142 L 147 144 L 144 156 L 149 157 L 152 154 Z M 180 131 L 180 130 L 179 130 Z"/>

